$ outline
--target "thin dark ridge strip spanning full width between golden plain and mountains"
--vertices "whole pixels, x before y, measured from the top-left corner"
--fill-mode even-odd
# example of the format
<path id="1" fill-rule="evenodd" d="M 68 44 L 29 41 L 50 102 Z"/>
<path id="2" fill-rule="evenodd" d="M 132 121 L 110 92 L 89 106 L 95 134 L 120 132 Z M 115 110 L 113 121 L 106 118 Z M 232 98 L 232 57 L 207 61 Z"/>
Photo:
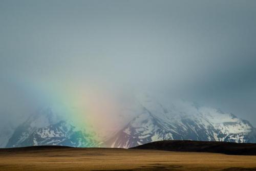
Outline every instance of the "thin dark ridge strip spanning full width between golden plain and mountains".
<path id="1" fill-rule="evenodd" d="M 12 147 L 0 148 L 1 152 L 28 152 L 41 151 L 51 149 L 87 149 L 101 147 L 71 147 L 58 145 L 39 145 L 27 147 Z M 124 148 L 109 148 L 109 149 L 124 149 Z M 235 143 L 235 142 L 220 142 L 220 141 L 191 141 L 191 140 L 164 140 L 155 141 L 132 147 L 129 149 L 153 149 L 161 151 L 173 152 L 206 152 L 206 153 L 221 153 L 226 155 L 252 155 L 256 156 L 256 143 Z M 129 150 L 127 149 L 127 150 Z"/>

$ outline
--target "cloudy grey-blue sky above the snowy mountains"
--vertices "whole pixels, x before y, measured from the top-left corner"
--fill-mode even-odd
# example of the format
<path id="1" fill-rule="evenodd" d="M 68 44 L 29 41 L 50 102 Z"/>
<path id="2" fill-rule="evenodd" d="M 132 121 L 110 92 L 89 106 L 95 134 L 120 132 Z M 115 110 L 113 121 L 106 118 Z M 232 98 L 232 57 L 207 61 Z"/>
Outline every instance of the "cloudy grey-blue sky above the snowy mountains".
<path id="1" fill-rule="evenodd" d="M 120 96 L 153 92 L 256 126 L 255 9 L 253 0 L 2 0 L 0 123 L 56 101 L 115 111 Z"/>

